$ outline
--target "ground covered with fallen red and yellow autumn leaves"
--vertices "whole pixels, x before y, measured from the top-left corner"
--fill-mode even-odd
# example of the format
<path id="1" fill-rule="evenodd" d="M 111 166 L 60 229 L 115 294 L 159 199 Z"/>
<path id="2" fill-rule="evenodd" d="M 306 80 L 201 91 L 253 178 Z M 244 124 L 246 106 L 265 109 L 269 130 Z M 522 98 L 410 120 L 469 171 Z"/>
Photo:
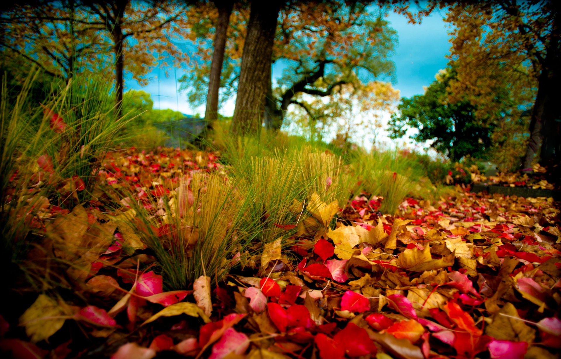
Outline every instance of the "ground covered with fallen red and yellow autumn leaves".
<path id="1" fill-rule="evenodd" d="M 127 202 L 116 206 L 112 191 L 150 207 L 173 196 L 185 172 L 224 171 L 212 153 L 189 156 L 113 155 L 99 173 L 104 195 L 73 208 L 45 199 L 25 214 L 40 235 L 3 273 L 4 356 L 558 357 L 553 200 L 458 189 L 432 203 L 408 198 L 393 216 L 377 211 L 376 197 L 340 209 L 312 195 L 309 217 L 275 223 L 286 236 L 224 258 L 224 280 L 209 273 L 172 291 L 145 228 L 117 220 L 132 212 L 113 211 Z M 79 180 L 61 193 L 73 196 Z M 164 217 L 162 206 L 149 210 Z M 164 218 L 152 229 L 174 238 Z"/>

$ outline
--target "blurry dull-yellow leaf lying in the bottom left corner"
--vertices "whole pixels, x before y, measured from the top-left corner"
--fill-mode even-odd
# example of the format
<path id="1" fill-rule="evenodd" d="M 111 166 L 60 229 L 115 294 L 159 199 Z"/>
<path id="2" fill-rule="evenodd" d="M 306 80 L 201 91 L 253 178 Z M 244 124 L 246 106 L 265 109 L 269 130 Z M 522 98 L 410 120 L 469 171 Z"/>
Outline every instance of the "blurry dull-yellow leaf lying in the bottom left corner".
<path id="1" fill-rule="evenodd" d="M 32 343 L 47 340 L 65 324 L 65 318 L 61 316 L 65 312 L 58 305 L 57 301 L 39 294 L 35 302 L 27 308 L 20 317 L 20 325 L 25 326 L 25 333 Z"/>

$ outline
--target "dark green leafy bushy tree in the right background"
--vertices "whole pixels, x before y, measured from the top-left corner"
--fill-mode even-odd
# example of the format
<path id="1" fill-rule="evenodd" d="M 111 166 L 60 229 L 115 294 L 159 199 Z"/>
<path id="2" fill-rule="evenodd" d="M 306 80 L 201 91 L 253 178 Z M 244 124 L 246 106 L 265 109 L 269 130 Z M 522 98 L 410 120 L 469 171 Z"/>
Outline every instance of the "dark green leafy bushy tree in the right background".
<path id="1" fill-rule="evenodd" d="M 493 125 L 478 119 L 476 107 L 467 100 L 447 103 L 447 88 L 454 76 L 452 69 L 441 71 L 424 95 L 403 98 L 398 105 L 399 114 L 389 121 L 390 137 L 403 137 L 408 127 L 417 128 L 411 139 L 432 140 L 431 147 L 453 161 L 468 154 L 484 158 L 491 145 Z"/>

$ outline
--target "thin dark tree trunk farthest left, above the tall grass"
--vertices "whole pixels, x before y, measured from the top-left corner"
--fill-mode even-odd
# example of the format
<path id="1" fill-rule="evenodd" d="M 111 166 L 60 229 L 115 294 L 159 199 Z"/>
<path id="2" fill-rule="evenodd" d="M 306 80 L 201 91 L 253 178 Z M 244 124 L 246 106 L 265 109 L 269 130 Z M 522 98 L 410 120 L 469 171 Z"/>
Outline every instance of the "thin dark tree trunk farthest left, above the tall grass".
<path id="1" fill-rule="evenodd" d="M 123 44 L 125 43 L 125 35 L 123 34 L 122 24 L 125 17 L 125 8 L 128 0 L 121 0 L 115 3 L 116 9 L 114 12 L 115 24 L 111 30 L 111 35 L 114 42 L 115 52 L 115 99 L 117 103 L 117 118 L 122 117 L 123 105 L 123 72 L 125 71 L 125 56 L 123 54 Z"/>

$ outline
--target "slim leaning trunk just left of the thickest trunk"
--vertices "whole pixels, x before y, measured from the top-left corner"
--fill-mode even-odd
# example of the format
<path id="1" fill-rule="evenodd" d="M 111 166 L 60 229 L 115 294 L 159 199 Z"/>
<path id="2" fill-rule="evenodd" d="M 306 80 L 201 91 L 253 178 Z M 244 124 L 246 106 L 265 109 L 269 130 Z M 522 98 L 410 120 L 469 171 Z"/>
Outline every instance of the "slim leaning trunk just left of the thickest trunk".
<path id="1" fill-rule="evenodd" d="M 220 73 L 224 62 L 226 49 L 226 33 L 232 13 L 233 2 L 230 0 L 215 0 L 218 8 L 218 22 L 214 33 L 214 51 L 210 65 L 209 91 L 206 95 L 205 122 L 206 131 L 213 127 L 213 121 L 218 119 L 218 90 L 220 89 Z"/>

